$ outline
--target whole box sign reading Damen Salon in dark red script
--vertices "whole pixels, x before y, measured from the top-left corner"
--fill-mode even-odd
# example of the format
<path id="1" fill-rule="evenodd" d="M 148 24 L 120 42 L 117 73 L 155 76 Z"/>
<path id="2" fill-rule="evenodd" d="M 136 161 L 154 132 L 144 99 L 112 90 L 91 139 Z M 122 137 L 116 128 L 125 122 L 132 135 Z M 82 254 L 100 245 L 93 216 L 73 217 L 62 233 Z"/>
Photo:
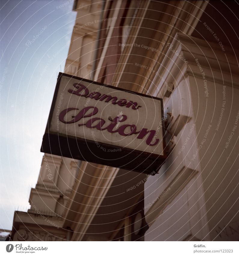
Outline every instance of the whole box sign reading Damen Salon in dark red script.
<path id="1" fill-rule="evenodd" d="M 59 73 L 41 152 L 152 173 L 165 160 L 162 99 Z"/>

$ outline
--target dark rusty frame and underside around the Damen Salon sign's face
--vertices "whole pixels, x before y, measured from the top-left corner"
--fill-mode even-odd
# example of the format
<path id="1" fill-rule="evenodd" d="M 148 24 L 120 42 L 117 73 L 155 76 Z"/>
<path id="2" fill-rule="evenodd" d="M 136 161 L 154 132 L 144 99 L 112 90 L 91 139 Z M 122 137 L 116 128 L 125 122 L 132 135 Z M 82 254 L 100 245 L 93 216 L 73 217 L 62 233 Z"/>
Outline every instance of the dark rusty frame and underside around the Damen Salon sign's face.
<path id="1" fill-rule="evenodd" d="M 80 81 L 86 81 L 88 83 L 101 85 L 104 87 L 109 87 L 115 90 L 133 93 L 143 97 L 149 97 L 155 100 L 160 100 L 161 117 L 164 116 L 163 99 L 161 98 L 133 92 L 130 90 L 114 87 L 107 84 L 102 84 L 99 82 L 95 82 L 95 81 L 91 81 L 81 77 L 76 77 L 76 76 L 59 72 L 53 100 L 51 103 L 51 109 L 50 109 L 49 117 L 47 120 L 45 133 L 43 135 L 41 152 L 58 155 L 58 156 L 69 157 L 72 159 L 83 160 L 83 161 L 106 165 L 106 166 L 112 166 L 116 168 L 130 170 L 130 171 L 136 171 L 140 173 L 155 175 L 155 173 L 158 172 L 158 170 L 163 165 L 167 157 L 166 150 L 165 150 L 166 148 L 165 128 L 164 128 L 163 120 L 161 120 L 162 121 L 161 129 L 162 129 L 162 136 L 163 136 L 162 137 L 163 155 L 158 155 L 158 154 L 150 153 L 146 151 L 131 149 L 127 147 L 120 147 L 112 144 L 99 142 L 100 145 L 102 145 L 104 148 L 106 148 L 107 150 L 110 150 L 108 151 L 110 153 L 107 154 L 107 159 L 104 159 L 106 157 L 107 151 L 99 150 L 94 140 L 80 138 L 72 135 L 66 135 L 60 132 L 54 132 L 49 130 L 49 127 L 53 118 L 53 114 L 54 114 L 54 107 L 57 101 L 58 90 L 60 88 L 60 81 L 63 76 L 71 77 Z M 112 154 L 114 150 L 117 151 L 117 155 Z M 94 152 L 97 152 L 97 156 L 94 154 Z"/>

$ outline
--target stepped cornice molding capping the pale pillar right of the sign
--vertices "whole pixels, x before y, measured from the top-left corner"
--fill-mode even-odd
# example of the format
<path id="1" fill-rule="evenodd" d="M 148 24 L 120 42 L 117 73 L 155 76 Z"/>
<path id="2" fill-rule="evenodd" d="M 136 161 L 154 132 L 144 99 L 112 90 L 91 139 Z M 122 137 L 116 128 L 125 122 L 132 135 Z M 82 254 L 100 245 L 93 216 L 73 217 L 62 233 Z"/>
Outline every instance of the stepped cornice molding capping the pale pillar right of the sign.
<path id="1" fill-rule="evenodd" d="M 205 40 L 182 33 L 176 33 L 168 48 L 157 72 L 167 83 L 173 83 L 174 87 L 188 75 L 202 79 L 202 73 L 197 66 L 196 59 L 200 63 L 207 81 L 228 86 L 239 86 L 238 64 L 234 55 L 236 50 L 222 52 L 218 49 L 217 43 L 210 42 L 209 45 Z M 185 58 L 188 63 L 180 59 L 176 53 Z M 157 87 L 157 90 L 163 94 L 164 86 L 164 81 L 155 76 L 149 93 L 155 96 Z"/>

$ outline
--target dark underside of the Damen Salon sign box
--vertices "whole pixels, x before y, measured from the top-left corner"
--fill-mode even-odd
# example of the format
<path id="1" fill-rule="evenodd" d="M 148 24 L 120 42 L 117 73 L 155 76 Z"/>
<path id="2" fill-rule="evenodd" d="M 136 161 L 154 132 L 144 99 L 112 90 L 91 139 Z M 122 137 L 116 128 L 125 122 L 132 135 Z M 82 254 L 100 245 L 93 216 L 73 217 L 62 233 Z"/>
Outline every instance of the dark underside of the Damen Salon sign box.
<path id="1" fill-rule="evenodd" d="M 163 155 L 100 142 L 96 144 L 94 141 L 57 133 L 44 134 L 41 152 L 151 175 L 157 173 L 165 161 Z"/>

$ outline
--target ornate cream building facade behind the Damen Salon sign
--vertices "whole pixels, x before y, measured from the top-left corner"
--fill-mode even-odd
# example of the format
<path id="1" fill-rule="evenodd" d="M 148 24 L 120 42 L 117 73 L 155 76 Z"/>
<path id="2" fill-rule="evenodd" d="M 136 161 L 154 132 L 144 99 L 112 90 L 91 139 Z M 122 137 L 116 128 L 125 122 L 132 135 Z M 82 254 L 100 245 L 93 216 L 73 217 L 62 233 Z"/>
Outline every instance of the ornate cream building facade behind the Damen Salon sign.
<path id="1" fill-rule="evenodd" d="M 167 160 L 146 176 L 46 154 L 13 240 L 239 240 L 235 5 L 75 2 L 65 73 L 162 98 Z"/>

